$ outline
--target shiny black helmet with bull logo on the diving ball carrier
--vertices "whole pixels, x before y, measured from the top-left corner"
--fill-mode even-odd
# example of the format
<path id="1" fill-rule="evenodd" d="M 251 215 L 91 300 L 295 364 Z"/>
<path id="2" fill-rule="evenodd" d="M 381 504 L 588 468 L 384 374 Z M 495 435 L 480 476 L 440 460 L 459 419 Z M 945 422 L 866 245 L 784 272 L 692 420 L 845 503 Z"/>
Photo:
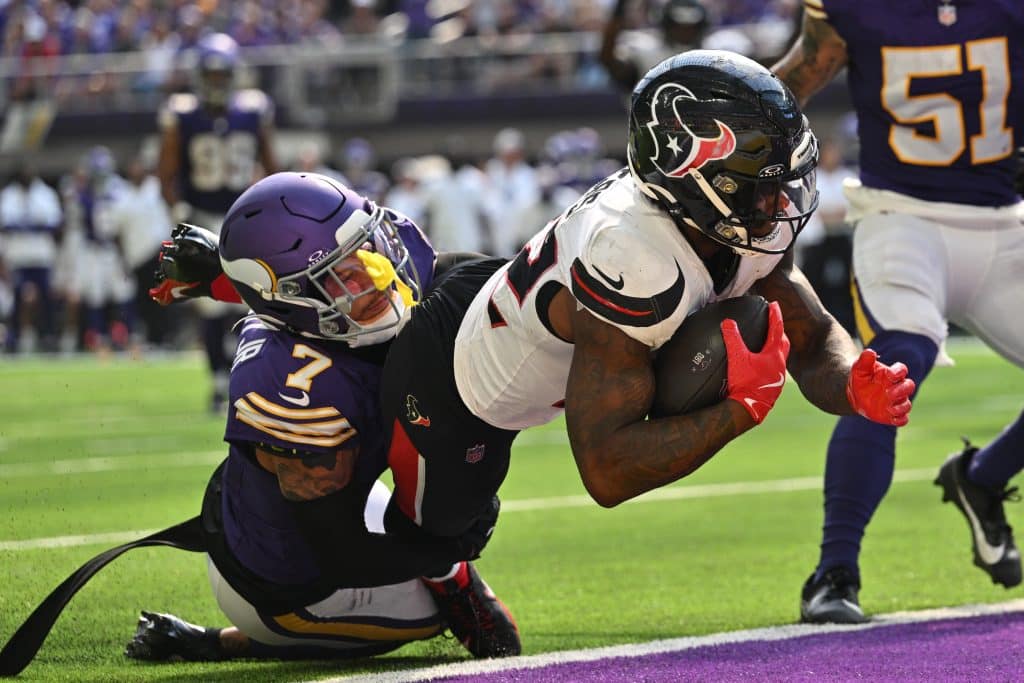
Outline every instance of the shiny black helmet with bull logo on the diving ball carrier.
<path id="1" fill-rule="evenodd" d="M 690 50 L 647 72 L 628 161 L 677 224 L 740 254 L 784 252 L 818 204 L 807 118 L 776 76 L 734 52 Z"/>

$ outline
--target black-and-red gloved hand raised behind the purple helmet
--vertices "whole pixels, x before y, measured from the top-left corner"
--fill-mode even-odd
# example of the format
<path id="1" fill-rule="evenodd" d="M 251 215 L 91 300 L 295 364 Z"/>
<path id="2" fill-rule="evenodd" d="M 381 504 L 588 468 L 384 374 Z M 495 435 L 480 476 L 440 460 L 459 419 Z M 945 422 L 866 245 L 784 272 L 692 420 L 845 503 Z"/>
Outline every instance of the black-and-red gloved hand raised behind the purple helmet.
<path id="1" fill-rule="evenodd" d="M 220 267 L 217 236 L 198 225 L 178 223 L 160 248 L 154 278 L 150 296 L 163 306 L 199 297 L 241 301 Z"/>

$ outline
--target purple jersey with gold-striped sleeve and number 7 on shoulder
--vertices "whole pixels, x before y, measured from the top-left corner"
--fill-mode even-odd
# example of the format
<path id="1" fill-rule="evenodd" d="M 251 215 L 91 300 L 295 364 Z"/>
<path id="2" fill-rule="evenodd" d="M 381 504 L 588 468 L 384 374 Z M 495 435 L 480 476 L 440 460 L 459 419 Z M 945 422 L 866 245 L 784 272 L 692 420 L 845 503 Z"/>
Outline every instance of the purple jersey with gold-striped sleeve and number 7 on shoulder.
<path id="1" fill-rule="evenodd" d="M 289 585 L 319 573 L 276 477 L 254 462 L 253 444 L 282 455 L 357 444 L 351 485 L 369 487 L 387 467 L 380 374 L 343 344 L 276 332 L 257 318 L 244 324 L 231 368 L 222 510 L 227 545 L 248 569 Z"/>

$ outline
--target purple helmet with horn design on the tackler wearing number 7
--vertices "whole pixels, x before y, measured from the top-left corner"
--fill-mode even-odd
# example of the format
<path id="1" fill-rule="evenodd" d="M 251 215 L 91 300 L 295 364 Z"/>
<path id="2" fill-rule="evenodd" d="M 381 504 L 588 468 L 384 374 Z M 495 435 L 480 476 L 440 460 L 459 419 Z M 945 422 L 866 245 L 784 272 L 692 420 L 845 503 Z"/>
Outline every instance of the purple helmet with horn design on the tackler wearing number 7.
<path id="1" fill-rule="evenodd" d="M 364 264 L 383 255 L 394 268 L 393 278 L 376 284 L 388 292 L 390 307 L 371 322 L 348 313 L 375 290 L 351 292 L 336 272 L 351 255 Z M 334 178 L 285 172 L 256 182 L 231 205 L 220 230 L 220 261 L 258 317 L 302 336 L 364 346 L 397 334 L 407 306 L 431 281 L 434 251 L 408 218 Z"/>

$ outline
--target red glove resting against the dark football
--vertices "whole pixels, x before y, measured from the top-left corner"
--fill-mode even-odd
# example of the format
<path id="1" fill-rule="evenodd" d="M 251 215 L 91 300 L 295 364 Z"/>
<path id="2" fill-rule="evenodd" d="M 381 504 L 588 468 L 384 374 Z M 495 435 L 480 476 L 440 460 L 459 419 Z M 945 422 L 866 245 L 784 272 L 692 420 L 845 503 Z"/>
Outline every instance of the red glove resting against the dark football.
<path id="1" fill-rule="evenodd" d="M 782 393 L 790 338 L 782 328 L 782 310 L 777 301 L 768 304 L 768 336 L 757 353 L 739 336 L 736 322 L 722 321 L 722 340 L 728 356 L 727 397 L 738 401 L 761 424 Z"/>

